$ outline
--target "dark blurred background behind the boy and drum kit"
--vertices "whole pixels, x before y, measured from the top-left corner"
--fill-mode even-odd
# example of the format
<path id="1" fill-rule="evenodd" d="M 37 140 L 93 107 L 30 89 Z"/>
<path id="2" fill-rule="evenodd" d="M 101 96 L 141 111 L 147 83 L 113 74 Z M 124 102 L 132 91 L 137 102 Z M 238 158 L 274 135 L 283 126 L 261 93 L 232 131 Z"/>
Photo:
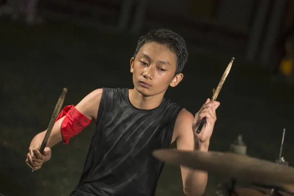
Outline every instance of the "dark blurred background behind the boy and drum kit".
<path id="1" fill-rule="evenodd" d="M 25 159 L 45 130 L 63 87 L 64 105 L 96 88 L 129 87 L 138 37 L 169 27 L 187 41 L 184 80 L 166 97 L 195 114 L 232 57 L 218 100 L 210 150 L 239 134 L 247 154 L 294 165 L 294 0 L 0 0 L 0 194 L 69 196 L 83 169 L 94 125 L 32 173 Z M 220 176 L 209 173 L 206 196 Z M 166 164 L 156 196 L 183 196 L 179 167 Z"/>

